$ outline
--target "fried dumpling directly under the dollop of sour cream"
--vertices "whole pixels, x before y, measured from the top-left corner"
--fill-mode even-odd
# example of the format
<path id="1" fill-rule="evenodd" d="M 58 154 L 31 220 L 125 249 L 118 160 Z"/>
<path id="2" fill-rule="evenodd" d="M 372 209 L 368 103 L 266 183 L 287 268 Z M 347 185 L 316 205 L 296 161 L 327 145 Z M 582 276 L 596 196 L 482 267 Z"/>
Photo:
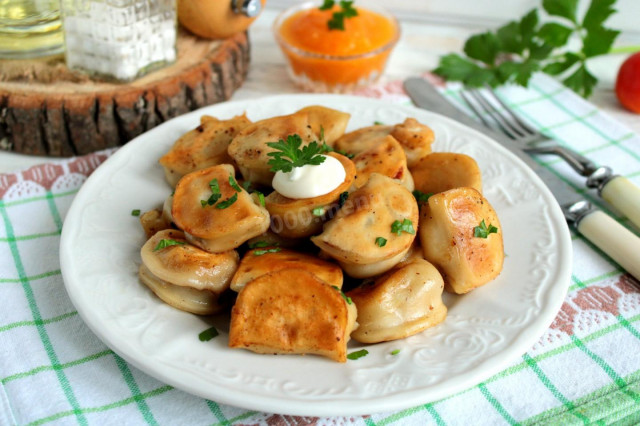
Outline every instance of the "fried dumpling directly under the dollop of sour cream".
<path id="1" fill-rule="evenodd" d="M 337 207 L 340 195 L 354 182 L 356 168 L 344 155 L 330 152 L 343 165 L 346 172 L 344 181 L 333 191 L 312 198 L 294 199 L 273 191 L 265 198 L 265 205 L 271 216 L 271 230 L 286 238 L 303 238 L 318 234 L 327 213 Z"/>

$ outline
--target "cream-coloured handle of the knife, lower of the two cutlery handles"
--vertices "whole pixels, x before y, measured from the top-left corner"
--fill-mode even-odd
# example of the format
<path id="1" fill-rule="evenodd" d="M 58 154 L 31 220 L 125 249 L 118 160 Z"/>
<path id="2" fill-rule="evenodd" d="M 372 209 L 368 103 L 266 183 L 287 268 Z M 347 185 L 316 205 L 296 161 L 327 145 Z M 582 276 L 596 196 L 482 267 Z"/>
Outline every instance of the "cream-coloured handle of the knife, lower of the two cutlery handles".
<path id="1" fill-rule="evenodd" d="M 578 222 L 578 232 L 640 280 L 640 238 L 631 231 L 596 210 Z"/>

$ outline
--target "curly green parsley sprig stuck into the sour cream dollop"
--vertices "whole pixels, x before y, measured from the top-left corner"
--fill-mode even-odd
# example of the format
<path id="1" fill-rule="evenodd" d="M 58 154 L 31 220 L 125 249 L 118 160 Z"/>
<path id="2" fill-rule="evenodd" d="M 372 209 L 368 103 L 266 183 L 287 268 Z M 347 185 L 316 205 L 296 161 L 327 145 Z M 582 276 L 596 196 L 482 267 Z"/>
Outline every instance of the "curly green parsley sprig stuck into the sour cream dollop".
<path id="1" fill-rule="evenodd" d="M 271 166 L 272 172 L 282 171 L 288 173 L 294 167 L 302 167 L 307 164 L 317 166 L 322 164 L 325 157 L 322 145 L 317 142 L 311 142 L 309 145 L 303 146 L 302 138 L 297 135 L 289 135 L 286 140 L 280 139 L 278 142 L 267 142 L 267 146 L 275 149 L 267 155 L 272 157 L 267 164 Z"/>

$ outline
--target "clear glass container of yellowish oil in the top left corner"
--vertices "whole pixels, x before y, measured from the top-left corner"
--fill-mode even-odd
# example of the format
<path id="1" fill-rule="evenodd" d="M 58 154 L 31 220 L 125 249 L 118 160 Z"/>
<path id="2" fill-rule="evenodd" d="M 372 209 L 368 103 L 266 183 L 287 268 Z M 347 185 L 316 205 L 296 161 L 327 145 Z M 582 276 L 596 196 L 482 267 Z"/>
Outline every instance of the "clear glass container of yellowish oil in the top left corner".
<path id="1" fill-rule="evenodd" d="M 0 58 L 62 53 L 59 0 L 0 0 Z"/>

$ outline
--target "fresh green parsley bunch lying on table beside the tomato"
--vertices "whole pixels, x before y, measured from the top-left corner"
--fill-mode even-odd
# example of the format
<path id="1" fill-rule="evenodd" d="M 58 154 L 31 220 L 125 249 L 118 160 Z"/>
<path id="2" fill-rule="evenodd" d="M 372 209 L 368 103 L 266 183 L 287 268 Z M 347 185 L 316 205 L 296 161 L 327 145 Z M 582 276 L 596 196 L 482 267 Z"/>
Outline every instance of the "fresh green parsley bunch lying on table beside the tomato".
<path id="1" fill-rule="evenodd" d="M 440 59 L 434 73 L 466 86 L 492 87 L 504 83 L 527 86 L 536 71 L 562 78 L 562 82 L 584 97 L 597 83 L 587 69 L 587 60 L 609 52 L 619 31 L 606 28 L 605 21 L 615 13 L 616 0 L 591 0 L 580 18 L 580 0 L 543 0 L 542 8 L 554 19 L 541 23 L 538 9 L 519 21 L 470 37 L 464 45 L 465 57 L 449 54 Z M 581 48 L 568 50 L 571 36 Z"/>

